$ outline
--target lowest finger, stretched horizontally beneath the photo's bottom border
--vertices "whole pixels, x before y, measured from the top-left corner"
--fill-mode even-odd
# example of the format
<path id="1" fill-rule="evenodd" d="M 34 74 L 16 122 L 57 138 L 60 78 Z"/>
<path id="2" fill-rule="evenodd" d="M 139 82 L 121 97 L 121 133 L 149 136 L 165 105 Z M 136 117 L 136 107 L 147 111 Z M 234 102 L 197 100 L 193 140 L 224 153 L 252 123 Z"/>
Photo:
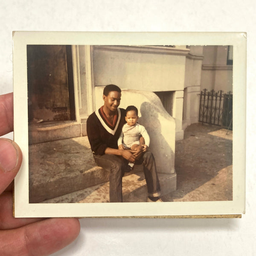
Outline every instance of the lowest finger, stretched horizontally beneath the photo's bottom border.
<path id="1" fill-rule="evenodd" d="M 17 229 L 0 230 L 0 255 L 50 255 L 74 241 L 79 231 L 76 218 L 49 218 Z"/>

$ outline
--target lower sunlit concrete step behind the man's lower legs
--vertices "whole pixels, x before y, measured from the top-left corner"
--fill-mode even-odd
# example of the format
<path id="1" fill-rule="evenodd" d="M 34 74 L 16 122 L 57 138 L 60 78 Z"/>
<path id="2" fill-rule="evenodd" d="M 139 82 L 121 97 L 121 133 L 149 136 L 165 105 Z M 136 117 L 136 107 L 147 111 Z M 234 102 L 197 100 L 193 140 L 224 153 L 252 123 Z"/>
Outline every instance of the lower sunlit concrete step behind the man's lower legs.
<path id="1" fill-rule="evenodd" d="M 159 174 L 161 194 L 166 195 L 176 190 L 176 173 Z M 123 202 L 145 202 L 148 192 L 143 172 L 133 173 L 122 179 Z M 109 182 L 87 189 L 45 200 L 41 203 L 107 203 L 109 202 Z"/>

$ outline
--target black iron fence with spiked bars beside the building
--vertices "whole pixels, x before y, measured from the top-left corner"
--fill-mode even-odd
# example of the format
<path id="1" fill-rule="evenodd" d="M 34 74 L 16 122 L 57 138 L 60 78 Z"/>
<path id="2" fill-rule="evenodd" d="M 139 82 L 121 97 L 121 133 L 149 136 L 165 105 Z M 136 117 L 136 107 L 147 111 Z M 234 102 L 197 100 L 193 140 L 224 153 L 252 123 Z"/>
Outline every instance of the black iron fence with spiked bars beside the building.
<path id="1" fill-rule="evenodd" d="M 200 93 L 199 122 L 232 130 L 233 94 L 204 89 Z"/>

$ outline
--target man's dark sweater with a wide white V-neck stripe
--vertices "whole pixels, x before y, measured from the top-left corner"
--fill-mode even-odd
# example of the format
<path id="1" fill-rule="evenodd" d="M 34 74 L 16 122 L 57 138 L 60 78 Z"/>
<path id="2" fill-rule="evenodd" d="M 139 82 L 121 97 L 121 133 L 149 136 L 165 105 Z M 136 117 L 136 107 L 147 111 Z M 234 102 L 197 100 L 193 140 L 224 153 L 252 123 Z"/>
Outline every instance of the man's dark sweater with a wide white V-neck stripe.
<path id="1" fill-rule="evenodd" d="M 87 119 L 87 136 L 91 150 L 96 155 L 105 154 L 106 148 L 118 148 L 117 140 L 125 124 L 125 109 L 118 108 L 113 124 L 108 122 L 103 108 L 93 112 Z"/>

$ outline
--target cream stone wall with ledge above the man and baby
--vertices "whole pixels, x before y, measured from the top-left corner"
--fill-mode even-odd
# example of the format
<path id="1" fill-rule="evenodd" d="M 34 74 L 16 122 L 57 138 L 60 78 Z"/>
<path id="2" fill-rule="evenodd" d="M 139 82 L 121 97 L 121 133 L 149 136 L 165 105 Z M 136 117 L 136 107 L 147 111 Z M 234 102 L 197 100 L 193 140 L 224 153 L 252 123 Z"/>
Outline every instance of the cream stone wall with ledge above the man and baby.
<path id="1" fill-rule="evenodd" d="M 183 139 L 186 46 L 93 46 L 93 86 L 116 84 L 129 90 L 173 92 L 176 140 Z"/>

